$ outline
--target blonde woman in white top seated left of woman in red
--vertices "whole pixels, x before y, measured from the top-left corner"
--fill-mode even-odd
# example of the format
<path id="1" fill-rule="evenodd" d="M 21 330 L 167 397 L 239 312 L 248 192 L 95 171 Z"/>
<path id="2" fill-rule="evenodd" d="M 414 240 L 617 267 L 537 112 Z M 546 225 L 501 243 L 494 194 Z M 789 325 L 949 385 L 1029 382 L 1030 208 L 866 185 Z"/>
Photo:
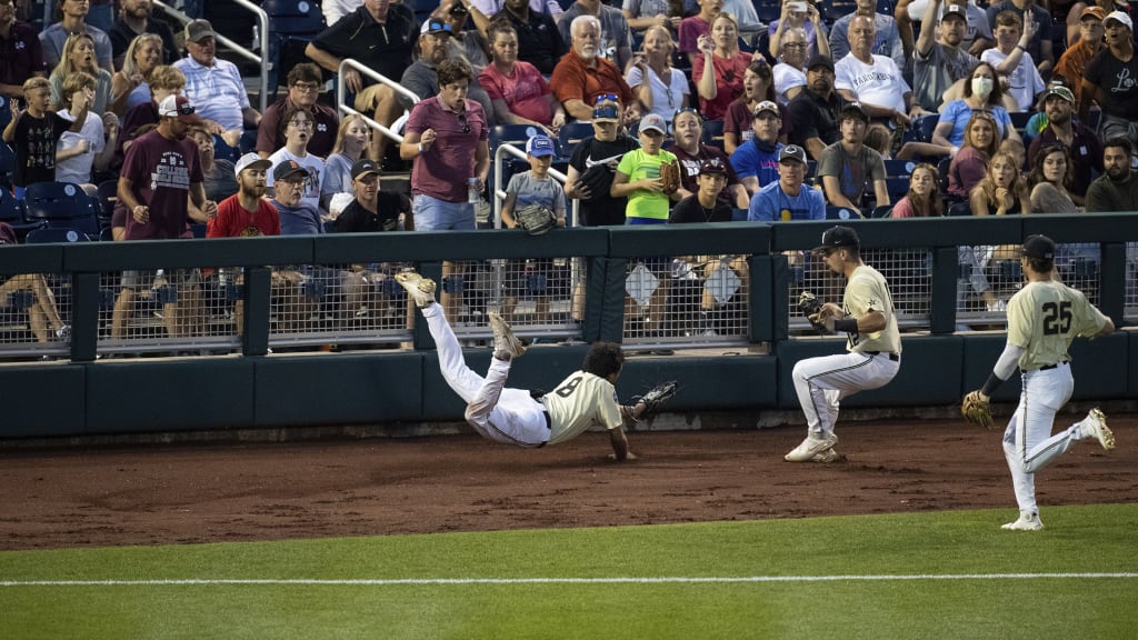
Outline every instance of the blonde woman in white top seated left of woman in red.
<path id="1" fill-rule="evenodd" d="M 641 113 L 666 121 L 687 107 L 690 89 L 684 72 L 671 66 L 676 43 L 668 27 L 653 25 L 644 32 L 643 52 L 633 58 L 625 80 L 641 102 Z"/>

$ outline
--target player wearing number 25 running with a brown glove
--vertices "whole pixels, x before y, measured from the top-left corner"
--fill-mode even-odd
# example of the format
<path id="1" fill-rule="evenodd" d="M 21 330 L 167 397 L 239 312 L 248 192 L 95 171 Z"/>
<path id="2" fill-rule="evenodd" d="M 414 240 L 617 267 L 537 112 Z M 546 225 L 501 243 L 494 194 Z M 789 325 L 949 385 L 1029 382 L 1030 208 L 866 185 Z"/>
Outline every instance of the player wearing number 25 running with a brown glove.
<path id="1" fill-rule="evenodd" d="M 1004 456 L 1012 471 L 1020 518 L 1003 528 L 1038 531 L 1044 524 L 1036 503 L 1036 471 L 1079 441 L 1097 441 L 1107 451 L 1114 449 L 1114 434 L 1097 408 L 1052 435 L 1055 413 L 1074 389 L 1067 354 L 1071 340 L 1110 335 L 1114 323 L 1081 292 L 1054 277 L 1055 243 L 1050 238 L 1029 236 L 1022 251 L 1020 263 L 1028 284 L 1007 303 L 1007 345 L 984 386 L 964 396 L 960 411 L 968 421 L 990 427 L 989 397 L 1019 367 L 1023 391 L 1004 432 Z"/>

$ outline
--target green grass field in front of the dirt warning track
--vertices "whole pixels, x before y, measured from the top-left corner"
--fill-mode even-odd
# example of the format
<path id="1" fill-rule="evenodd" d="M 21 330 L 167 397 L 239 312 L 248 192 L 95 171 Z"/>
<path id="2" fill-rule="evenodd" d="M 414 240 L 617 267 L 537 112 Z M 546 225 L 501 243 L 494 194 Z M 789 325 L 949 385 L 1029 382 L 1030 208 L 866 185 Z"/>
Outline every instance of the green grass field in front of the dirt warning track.
<path id="1" fill-rule="evenodd" d="M 0 552 L 0 638 L 1138 637 L 1138 504 Z"/>

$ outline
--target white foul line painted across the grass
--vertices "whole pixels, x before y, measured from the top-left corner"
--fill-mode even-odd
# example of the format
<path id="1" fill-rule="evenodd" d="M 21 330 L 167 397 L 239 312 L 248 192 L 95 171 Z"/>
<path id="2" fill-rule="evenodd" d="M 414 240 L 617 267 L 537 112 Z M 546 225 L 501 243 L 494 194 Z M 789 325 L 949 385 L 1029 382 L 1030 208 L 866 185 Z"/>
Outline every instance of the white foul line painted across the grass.
<path id="1" fill-rule="evenodd" d="M 707 584 L 762 582 L 890 582 L 920 580 L 1133 580 L 1138 573 L 971 573 L 916 575 L 749 575 L 661 577 L 406 577 L 374 580 L 184 579 L 184 580 L 3 580 L 0 586 L 195 586 L 316 585 L 393 586 L 447 584 Z"/>

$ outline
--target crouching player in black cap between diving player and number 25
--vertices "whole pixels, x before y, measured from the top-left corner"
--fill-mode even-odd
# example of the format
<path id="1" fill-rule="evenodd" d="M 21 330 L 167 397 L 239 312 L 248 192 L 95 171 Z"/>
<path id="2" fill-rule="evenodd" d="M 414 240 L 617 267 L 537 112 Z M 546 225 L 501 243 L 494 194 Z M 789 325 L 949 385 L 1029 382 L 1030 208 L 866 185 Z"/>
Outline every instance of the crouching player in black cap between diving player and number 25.
<path id="1" fill-rule="evenodd" d="M 787 453 L 789 462 L 834 462 L 839 403 L 859 391 L 889 384 L 901 364 L 901 338 L 893 315 L 893 298 L 885 278 L 861 262 L 860 240 L 849 227 L 831 227 L 814 249 L 826 266 L 848 280 L 842 306 L 822 305 L 811 321 L 827 331 L 846 331 L 847 353 L 810 358 L 794 366 L 791 377 L 806 413 L 807 436 Z"/>

